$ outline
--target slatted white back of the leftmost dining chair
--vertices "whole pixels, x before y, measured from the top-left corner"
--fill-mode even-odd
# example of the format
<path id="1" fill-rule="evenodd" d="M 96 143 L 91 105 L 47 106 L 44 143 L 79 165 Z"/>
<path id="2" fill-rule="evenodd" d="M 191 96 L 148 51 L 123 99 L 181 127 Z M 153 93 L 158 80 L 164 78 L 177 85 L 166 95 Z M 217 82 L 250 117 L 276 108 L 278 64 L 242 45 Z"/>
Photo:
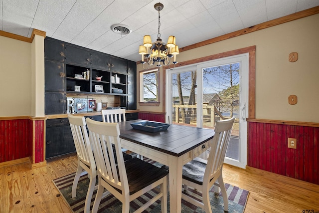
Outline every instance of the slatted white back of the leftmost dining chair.
<path id="1" fill-rule="evenodd" d="M 95 167 L 95 160 L 86 129 L 85 118 L 68 114 L 73 141 L 78 159 L 89 167 Z"/>

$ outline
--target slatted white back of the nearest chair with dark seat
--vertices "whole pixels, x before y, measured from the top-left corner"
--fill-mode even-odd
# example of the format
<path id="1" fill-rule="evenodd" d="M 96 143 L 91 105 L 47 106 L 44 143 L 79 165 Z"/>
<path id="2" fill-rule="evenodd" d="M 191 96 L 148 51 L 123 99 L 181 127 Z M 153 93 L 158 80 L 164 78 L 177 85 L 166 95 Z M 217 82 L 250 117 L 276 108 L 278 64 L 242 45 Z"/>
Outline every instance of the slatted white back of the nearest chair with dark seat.
<path id="1" fill-rule="evenodd" d="M 94 121 L 90 118 L 86 119 L 86 123 L 89 129 L 89 137 L 95 156 L 98 174 L 109 185 L 120 189 L 122 194 L 124 192 L 129 192 L 129 184 L 119 137 L 119 124 Z M 115 145 L 115 154 L 112 149 L 112 144 Z"/>

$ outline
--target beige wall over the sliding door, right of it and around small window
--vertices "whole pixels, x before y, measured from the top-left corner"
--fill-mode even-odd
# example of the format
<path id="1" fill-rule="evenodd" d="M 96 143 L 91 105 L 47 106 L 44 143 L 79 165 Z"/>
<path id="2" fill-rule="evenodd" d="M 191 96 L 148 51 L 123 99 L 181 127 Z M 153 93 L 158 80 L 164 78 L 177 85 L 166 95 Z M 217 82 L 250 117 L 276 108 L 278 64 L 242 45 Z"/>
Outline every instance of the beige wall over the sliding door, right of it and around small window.
<path id="1" fill-rule="evenodd" d="M 256 45 L 256 118 L 319 122 L 319 14 L 181 52 L 179 62 Z M 176 38 L 178 43 L 178 38 Z M 291 52 L 299 59 L 289 62 Z M 138 65 L 138 71 L 142 70 Z M 161 72 L 162 75 L 162 72 Z M 139 76 L 138 76 L 139 79 Z M 162 88 L 161 76 L 161 88 Z M 139 82 L 138 82 L 139 96 Z M 298 103 L 290 105 L 289 95 Z M 161 103 L 163 95 L 160 94 Z M 139 97 L 138 97 L 139 98 Z M 162 112 L 163 107 L 139 106 Z"/>

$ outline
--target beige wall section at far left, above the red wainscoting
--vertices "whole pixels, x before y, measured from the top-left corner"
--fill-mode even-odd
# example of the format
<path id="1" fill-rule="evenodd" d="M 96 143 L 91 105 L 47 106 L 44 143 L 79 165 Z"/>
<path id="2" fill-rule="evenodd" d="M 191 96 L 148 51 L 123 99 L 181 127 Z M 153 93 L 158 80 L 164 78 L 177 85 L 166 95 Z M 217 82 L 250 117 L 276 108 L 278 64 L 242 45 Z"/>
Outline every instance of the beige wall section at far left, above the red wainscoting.
<path id="1" fill-rule="evenodd" d="M 0 117 L 31 115 L 31 43 L 0 36 Z"/>

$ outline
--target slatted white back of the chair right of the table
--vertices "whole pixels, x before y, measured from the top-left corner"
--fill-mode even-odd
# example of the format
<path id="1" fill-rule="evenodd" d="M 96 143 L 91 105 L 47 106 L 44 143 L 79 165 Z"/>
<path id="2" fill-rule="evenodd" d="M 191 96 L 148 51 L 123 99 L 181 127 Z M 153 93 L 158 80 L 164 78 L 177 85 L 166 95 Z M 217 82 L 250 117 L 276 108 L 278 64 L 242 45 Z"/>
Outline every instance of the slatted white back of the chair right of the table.
<path id="1" fill-rule="evenodd" d="M 216 121 L 215 135 L 207 159 L 204 180 L 210 180 L 222 169 L 234 121 L 234 117 Z"/>

